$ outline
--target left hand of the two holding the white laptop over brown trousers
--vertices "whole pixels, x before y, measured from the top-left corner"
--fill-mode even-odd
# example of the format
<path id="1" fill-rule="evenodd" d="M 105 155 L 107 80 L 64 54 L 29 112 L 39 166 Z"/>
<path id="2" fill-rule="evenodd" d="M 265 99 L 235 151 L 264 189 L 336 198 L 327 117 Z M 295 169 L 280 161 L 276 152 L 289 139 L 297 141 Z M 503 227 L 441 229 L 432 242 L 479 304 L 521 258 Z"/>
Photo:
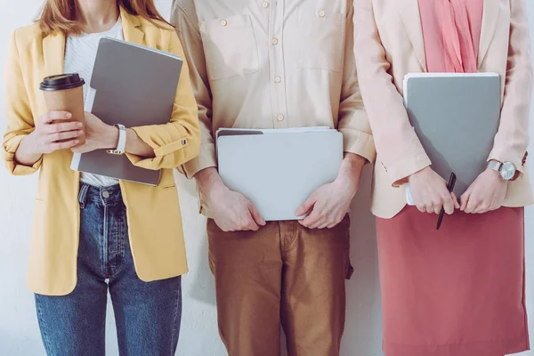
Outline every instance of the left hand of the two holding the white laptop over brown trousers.
<path id="1" fill-rule="evenodd" d="M 229 190 L 215 168 L 195 175 L 214 222 L 223 231 L 258 231 L 265 225 L 255 206 L 237 191 Z"/>

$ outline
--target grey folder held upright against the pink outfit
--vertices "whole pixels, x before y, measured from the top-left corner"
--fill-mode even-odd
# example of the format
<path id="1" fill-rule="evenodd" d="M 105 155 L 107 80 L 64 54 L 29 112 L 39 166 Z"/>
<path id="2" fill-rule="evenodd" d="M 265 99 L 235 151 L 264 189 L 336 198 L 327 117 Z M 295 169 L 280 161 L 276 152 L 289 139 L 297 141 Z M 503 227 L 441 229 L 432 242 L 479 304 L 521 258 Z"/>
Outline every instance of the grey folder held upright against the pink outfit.
<path id="1" fill-rule="evenodd" d="M 410 74 L 404 99 L 433 170 L 459 197 L 486 169 L 500 118 L 500 77 L 479 74 Z"/>

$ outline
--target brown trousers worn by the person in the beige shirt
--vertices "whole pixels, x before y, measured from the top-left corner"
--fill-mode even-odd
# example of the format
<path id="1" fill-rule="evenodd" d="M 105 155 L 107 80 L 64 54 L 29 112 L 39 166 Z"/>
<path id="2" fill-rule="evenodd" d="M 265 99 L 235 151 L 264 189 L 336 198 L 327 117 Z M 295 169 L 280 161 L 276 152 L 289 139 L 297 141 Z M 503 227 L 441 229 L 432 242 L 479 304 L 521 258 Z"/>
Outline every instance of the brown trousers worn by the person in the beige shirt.
<path id="1" fill-rule="evenodd" d="M 271 222 L 224 232 L 207 222 L 219 332 L 229 356 L 338 356 L 350 278 L 350 221 L 310 230 Z"/>

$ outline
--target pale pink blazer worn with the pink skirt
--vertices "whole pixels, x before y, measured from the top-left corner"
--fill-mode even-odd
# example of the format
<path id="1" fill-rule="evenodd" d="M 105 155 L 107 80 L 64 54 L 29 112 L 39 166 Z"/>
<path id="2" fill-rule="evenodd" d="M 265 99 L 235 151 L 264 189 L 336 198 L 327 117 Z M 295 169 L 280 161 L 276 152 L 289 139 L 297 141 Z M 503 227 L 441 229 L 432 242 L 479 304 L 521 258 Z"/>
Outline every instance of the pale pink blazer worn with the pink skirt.
<path id="1" fill-rule="evenodd" d="M 376 144 L 371 209 L 391 218 L 406 205 L 405 189 L 394 183 L 431 164 L 402 100 L 404 77 L 426 71 L 418 1 L 355 1 L 354 27 L 360 90 Z M 484 0 L 478 70 L 498 73 L 502 83 L 500 125 L 489 159 L 512 162 L 522 171 L 508 184 L 504 205 L 530 205 L 534 199 L 523 158 L 533 75 L 524 0 Z"/>

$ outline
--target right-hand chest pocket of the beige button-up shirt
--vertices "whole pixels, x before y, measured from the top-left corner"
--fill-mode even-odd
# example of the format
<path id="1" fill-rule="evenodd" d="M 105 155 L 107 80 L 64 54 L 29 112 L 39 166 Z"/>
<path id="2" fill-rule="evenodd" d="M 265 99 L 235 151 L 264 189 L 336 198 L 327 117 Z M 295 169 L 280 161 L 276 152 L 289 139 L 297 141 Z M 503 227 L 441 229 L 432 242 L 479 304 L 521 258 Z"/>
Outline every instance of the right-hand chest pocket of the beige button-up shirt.
<path id="1" fill-rule="evenodd" d="M 300 41 L 297 67 L 341 73 L 344 60 L 346 16 L 327 10 L 300 10 Z"/>

